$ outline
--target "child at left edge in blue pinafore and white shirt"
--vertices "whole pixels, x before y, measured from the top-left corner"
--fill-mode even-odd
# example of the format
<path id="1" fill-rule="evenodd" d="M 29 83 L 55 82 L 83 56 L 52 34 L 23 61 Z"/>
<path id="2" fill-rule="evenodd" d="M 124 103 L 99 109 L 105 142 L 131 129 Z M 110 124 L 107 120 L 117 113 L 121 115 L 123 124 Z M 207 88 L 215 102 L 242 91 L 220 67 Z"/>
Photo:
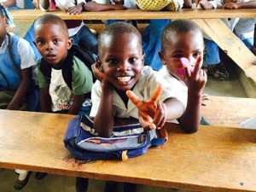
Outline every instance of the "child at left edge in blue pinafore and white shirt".
<path id="1" fill-rule="evenodd" d="M 0 3 L 0 108 L 38 111 L 35 54 L 26 40 L 7 32 L 6 26 L 12 24 L 11 15 Z M 18 169 L 15 172 L 19 174 L 15 189 L 22 189 L 31 172 Z"/>

